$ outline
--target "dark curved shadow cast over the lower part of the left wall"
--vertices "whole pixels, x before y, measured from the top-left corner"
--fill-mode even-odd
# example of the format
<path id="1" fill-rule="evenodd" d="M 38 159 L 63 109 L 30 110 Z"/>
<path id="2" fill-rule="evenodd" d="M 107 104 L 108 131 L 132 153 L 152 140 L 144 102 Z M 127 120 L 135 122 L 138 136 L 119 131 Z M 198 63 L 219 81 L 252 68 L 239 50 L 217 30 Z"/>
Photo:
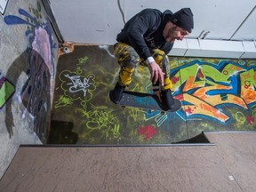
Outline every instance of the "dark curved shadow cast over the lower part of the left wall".
<path id="1" fill-rule="evenodd" d="M 23 72 L 26 73 L 27 80 L 19 88 L 17 87 L 19 84 L 18 80 Z M 25 107 L 24 111 L 21 111 L 22 118 L 29 115 L 33 116 L 31 126 L 33 126 L 37 136 L 44 143 L 51 118 L 51 75 L 44 59 L 38 52 L 32 49 L 28 50 L 28 52 L 23 52 L 19 58 L 14 60 L 12 66 L 8 68 L 6 78 L 14 84 L 17 93 L 16 100 L 14 100 L 15 97 L 12 97 L 6 103 L 5 125 L 10 138 L 13 135 L 14 127 L 22 126 L 22 123 L 14 124 L 15 116 L 20 116 L 20 114 L 13 114 L 12 108 L 15 108 L 16 105 L 20 105 L 19 102 L 22 102 Z M 5 95 L 6 97 L 8 96 L 8 94 Z M 12 101 L 14 101 L 14 105 Z"/>

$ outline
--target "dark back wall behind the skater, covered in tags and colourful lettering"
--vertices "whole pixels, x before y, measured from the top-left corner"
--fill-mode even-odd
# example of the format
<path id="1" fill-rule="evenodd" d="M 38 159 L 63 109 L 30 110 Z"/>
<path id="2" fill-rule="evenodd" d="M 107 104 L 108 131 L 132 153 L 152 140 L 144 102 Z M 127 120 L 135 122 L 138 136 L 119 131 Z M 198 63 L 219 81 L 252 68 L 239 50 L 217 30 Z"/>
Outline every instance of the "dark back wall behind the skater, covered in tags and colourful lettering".
<path id="1" fill-rule="evenodd" d="M 119 71 L 113 47 L 77 45 L 60 56 L 49 142 L 165 144 L 190 140 L 202 131 L 255 131 L 255 63 L 170 57 L 173 96 L 182 108 L 162 114 L 112 103 L 108 92 Z M 126 89 L 150 92 L 150 87 L 148 68 L 138 67 Z M 148 99 L 138 102 L 147 104 Z"/>

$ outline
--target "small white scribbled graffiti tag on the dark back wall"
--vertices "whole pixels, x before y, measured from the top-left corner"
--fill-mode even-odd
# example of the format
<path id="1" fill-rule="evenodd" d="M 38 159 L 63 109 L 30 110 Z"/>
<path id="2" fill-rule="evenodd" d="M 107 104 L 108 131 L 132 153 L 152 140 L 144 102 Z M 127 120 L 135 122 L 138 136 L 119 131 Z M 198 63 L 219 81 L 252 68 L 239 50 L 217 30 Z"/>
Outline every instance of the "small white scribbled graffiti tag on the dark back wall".
<path id="1" fill-rule="evenodd" d="M 82 80 L 81 76 L 69 76 L 68 77 L 72 83 L 69 83 L 68 85 L 72 85 L 69 87 L 69 92 L 84 92 L 84 97 L 86 95 L 87 89 L 90 87 L 90 76 L 87 78 L 84 78 L 84 81 Z"/>

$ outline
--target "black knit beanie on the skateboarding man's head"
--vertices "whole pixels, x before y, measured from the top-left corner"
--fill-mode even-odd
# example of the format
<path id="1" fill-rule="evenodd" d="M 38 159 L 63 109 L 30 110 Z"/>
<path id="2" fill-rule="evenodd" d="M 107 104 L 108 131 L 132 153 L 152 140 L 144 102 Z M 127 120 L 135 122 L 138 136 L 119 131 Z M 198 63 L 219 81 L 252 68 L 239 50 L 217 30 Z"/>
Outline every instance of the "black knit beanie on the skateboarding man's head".
<path id="1" fill-rule="evenodd" d="M 194 28 L 193 13 L 190 8 L 183 8 L 180 11 L 175 12 L 171 17 L 171 21 L 173 24 L 180 28 L 184 28 L 189 33 L 191 33 L 192 28 Z"/>

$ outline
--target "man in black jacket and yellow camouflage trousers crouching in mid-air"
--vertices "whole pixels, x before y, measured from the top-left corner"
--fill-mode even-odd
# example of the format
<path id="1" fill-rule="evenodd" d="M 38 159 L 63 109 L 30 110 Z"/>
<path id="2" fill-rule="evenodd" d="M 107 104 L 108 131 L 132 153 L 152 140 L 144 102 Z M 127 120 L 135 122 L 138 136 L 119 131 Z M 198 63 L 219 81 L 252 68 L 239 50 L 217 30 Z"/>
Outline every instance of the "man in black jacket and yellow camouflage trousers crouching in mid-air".
<path id="1" fill-rule="evenodd" d="M 154 94 L 172 108 L 172 81 L 169 78 L 170 63 L 167 54 L 175 40 L 182 40 L 194 28 L 193 13 L 189 8 L 179 12 L 160 12 L 145 9 L 125 23 L 116 37 L 114 53 L 121 66 L 119 80 L 114 90 L 109 92 L 110 100 L 118 103 L 122 99 L 125 86 L 131 84 L 134 69 L 140 64 L 147 66 Z"/>

